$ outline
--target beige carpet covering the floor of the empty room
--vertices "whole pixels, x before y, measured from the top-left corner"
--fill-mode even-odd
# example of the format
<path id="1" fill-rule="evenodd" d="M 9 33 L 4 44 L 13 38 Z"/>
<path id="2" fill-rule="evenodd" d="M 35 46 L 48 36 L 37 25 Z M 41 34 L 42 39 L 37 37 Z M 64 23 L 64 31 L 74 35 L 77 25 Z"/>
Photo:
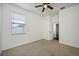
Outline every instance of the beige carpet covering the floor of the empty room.
<path id="1" fill-rule="evenodd" d="M 39 40 L 2 52 L 3 56 L 79 56 L 79 48 L 63 45 L 57 40 Z"/>

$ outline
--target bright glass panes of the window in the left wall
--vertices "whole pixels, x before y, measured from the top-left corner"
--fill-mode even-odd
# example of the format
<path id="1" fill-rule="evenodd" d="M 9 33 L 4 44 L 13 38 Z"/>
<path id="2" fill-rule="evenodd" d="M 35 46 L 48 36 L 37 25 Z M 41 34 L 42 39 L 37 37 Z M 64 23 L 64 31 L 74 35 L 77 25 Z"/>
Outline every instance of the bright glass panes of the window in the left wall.
<path id="1" fill-rule="evenodd" d="M 24 33 L 25 16 L 12 14 L 12 33 Z"/>

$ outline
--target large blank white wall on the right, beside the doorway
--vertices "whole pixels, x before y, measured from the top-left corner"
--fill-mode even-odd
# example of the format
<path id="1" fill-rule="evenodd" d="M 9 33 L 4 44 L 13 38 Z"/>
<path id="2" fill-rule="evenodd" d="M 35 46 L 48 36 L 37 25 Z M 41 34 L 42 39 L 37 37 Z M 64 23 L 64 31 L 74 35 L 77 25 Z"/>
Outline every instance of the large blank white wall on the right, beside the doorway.
<path id="1" fill-rule="evenodd" d="M 60 43 L 79 48 L 79 5 L 59 13 Z"/>

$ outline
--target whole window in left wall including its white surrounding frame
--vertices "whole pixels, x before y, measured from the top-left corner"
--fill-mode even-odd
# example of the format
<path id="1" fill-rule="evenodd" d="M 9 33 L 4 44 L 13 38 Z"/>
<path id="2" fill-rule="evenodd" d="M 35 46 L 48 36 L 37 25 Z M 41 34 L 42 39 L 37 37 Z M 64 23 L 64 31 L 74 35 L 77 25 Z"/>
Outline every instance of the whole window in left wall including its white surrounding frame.
<path id="1" fill-rule="evenodd" d="M 23 34 L 23 33 L 25 33 L 25 20 L 26 20 L 26 18 L 23 14 L 19 14 L 19 13 L 16 13 L 16 12 L 12 13 L 12 18 L 11 18 L 11 32 L 12 32 L 12 34 Z M 22 22 L 20 22 L 20 21 L 22 21 Z M 15 24 L 15 25 L 17 24 L 17 26 L 15 27 L 15 31 L 13 29 L 13 24 Z"/>

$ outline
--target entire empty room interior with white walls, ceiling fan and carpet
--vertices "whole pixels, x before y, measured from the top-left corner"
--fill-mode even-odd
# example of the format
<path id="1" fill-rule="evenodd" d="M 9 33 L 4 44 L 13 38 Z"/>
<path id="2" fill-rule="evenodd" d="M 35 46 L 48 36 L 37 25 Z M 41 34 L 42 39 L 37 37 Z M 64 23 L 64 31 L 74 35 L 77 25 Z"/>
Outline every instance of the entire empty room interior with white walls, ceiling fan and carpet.
<path id="1" fill-rule="evenodd" d="M 0 3 L 1 56 L 79 56 L 79 3 Z"/>

